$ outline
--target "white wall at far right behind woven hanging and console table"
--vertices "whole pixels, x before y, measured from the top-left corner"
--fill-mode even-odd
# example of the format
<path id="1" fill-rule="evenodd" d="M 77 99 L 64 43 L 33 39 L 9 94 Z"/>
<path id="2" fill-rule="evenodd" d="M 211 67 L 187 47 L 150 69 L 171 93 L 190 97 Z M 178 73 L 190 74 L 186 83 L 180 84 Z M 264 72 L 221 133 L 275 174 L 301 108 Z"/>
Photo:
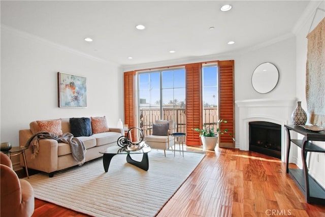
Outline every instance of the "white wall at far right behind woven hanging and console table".
<path id="1" fill-rule="evenodd" d="M 296 37 L 297 37 L 297 98 L 302 101 L 302 107 L 307 112 L 307 101 L 306 101 L 306 61 L 307 61 L 307 35 L 314 27 L 325 17 L 325 12 L 317 10 L 319 7 L 322 10 L 325 10 L 325 3 L 311 2 L 308 8 L 308 13 L 302 17 L 300 20 L 300 25 L 296 28 Z M 315 13 L 316 12 L 316 13 Z M 313 20 L 313 17 L 315 18 Z M 309 121 L 309 118 L 307 122 Z M 315 142 L 322 148 L 325 148 L 325 142 Z M 301 150 L 296 148 L 299 153 L 297 164 L 301 165 Z M 310 158 L 308 159 L 309 173 L 325 188 L 325 153 L 311 153 Z"/>

